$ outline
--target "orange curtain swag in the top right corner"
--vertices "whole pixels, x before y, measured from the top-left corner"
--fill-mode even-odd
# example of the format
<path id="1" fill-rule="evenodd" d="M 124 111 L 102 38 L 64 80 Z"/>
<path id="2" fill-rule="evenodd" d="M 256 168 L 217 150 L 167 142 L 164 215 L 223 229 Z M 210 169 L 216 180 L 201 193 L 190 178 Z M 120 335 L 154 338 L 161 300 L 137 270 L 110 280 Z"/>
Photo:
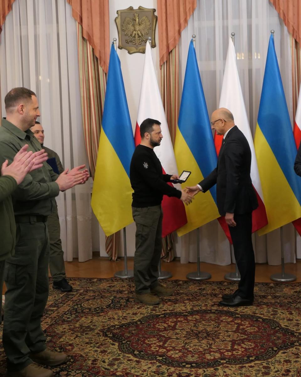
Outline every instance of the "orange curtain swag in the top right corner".
<path id="1" fill-rule="evenodd" d="M 300 0 L 270 0 L 283 19 L 287 30 L 301 43 L 301 2 Z"/>

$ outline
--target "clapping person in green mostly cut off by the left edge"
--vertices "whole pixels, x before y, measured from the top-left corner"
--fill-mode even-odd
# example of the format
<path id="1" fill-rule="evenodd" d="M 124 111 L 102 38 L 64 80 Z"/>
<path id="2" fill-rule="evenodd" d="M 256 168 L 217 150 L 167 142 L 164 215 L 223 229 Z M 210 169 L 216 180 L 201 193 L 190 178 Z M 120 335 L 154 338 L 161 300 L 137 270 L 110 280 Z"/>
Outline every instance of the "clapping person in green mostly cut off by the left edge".
<path id="1" fill-rule="evenodd" d="M 11 194 L 27 173 L 42 167 L 47 155 L 44 150 L 36 153 L 26 152 L 25 145 L 15 155 L 14 161 L 8 166 L 3 162 L 0 176 L 0 229 L 2 231 L 0 248 L 0 296 L 2 295 L 5 259 L 15 253 L 16 224 L 12 208 Z M 0 323 L 2 323 L 2 297 L 0 299 Z"/>

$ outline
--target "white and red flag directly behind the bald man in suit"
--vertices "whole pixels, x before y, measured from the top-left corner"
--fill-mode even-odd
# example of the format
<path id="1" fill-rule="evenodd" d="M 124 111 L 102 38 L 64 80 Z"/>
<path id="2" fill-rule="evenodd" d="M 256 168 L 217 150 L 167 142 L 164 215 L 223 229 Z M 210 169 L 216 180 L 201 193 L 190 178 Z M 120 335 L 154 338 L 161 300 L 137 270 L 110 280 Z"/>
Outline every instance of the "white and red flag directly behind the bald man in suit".
<path id="1" fill-rule="evenodd" d="M 263 193 L 259 178 L 257 160 L 255 155 L 254 143 L 252 139 L 249 120 L 246 112 L 246 107 L 243 100 L 243 92 L 241 90 L 237 66 L 234 44 L 230 38 L 226 65 L 223 77 L 222 90 L 220 93 L 219 107 L 226 107 L 234 116 L 234 122 L 237 127 L 243 132 L 248 140 L 252 161 L 251 161 L 251 179 L 253 187 L 257 194 L 258 208 L 252 213 L 252 233 L 267 225 L 266 208 L 263 202 Z M 219 153 L 222 144 L 223 136 L 214 135 L 214 144 L 217 154 Z M 222 220 L 222 219 L 221 219 Z M 220 221 L 221 223 L 221 221 Z M 222 225 L 222 224 L 221 224 Z M 225 230 L 225 228 L 223 227 Z M 226 233 L 228 236 L 228 234 Z M 229 237 L 228 237 L 229 238 Z"/>

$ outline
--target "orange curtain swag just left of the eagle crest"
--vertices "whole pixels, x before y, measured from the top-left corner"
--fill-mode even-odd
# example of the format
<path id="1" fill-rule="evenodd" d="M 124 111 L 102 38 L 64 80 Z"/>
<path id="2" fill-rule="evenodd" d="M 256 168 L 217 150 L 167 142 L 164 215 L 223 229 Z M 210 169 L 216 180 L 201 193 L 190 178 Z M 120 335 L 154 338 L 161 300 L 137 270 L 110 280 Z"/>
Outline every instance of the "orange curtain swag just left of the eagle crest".
<path id="1" fill-rule="evenodd" d="M 110 28 L 108 0 L 67 0 L 72 16 L 83 28 L 83 37 L 89 42 L 99 64 L 108 73 L 110 58 Z"/>

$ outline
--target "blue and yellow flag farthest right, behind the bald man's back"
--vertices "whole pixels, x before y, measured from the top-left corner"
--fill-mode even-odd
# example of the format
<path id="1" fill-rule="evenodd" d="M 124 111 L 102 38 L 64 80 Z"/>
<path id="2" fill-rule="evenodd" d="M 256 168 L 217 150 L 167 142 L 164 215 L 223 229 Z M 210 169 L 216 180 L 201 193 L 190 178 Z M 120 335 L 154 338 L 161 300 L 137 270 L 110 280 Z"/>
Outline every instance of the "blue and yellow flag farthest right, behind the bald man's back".
<path id="1" fill-rule="evenodd" d="M 267 50 L 254 146 L 269 222 L 258 231 L 261 235 L 301 217 L 301 178 L 294 172 L 297 150 L 273 35 Z"/>

